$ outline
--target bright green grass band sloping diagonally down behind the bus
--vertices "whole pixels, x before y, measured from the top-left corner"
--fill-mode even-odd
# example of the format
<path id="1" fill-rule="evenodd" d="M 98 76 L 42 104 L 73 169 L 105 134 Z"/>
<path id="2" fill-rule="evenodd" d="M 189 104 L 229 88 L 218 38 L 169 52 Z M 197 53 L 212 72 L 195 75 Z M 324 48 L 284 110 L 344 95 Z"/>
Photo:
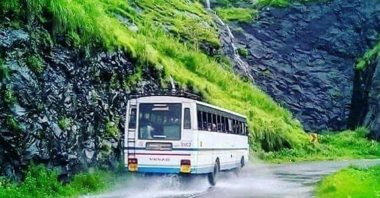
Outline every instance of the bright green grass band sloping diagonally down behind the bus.
<path id="1" fill-rule="evenodd" d="M 24 2 L 23 0 L 20 0 Z M 14 2 L 3 0 L 2 3 Z M 201 5 L 186 0 L 26 0 L 27 13 L 40 18 L 49 13 L 55 32 L 67 33 L 78 43 L 101 42 L 108 49 L 122 48 L 141 65 L 152 65 L 164 79 L 173 76 L 182 87 L 193 87 L 204 98 L 218 106 L 249 117 L 250 131 L 265 150 L 302 147 L 308 138 L 301 125 L 287 110 L 268 95 L 239 79 L 228 65 L 199 52 L 183 36 L 167 33 L 175 27 L 196 40 L 200 27 L 190 27 L 194 20 L 210 20 Z M 21 5 L 25 6 L 25 3 Z M 138 6 L 138 9 L 134 9 Z M 1 7 L 0 7 L 1 10 Z M 25 10 L 25 9 L 24 9 Z M 181 11 L 180 13 L 177 11 Z M 8 15 L 9 15 L 8 10 Z M 2 13 L 6 13 L 4 9 Z M 45 15 L 44 15 L 44 14 Z M 180 17 L 181 14 L 187 13 Z M 123 20 L 119 21 L 120 16 Z M 156 18 L 155 18 L 156 16 Z M 161 16 L 166 16 L 161 18 Z M 125 19 L 137 25 L 128 29 Z M 193 20 L 190 19 L 190 20 Z M 45 19 L 47 20 L 47 19 Z M 128 23 L 127 22 L 127 23 Z M 173 26 L 174 24 L 174 26 Z M 205 27 L 207 25 L 205 24 Z M 183 30 L 181 30 L 183 29 Z M 212 31 L 212 28 L 208 29 Z M 215 38 L 208 39 L 213 43 Z"/>

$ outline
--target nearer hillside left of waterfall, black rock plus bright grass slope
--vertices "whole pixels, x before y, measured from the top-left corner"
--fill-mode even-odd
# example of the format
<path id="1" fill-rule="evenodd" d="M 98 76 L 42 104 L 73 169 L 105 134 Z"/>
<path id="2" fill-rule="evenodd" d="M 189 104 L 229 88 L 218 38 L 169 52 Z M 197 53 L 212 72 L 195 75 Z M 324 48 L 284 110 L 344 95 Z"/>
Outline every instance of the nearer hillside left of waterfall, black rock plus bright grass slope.
<path id="1" fill-rule="evenodd" d="M 214 16 L 185 0 L 3 0 L 0 161 L 116 167 L 128 95 L 169 86 L 249 117 L 255 149 L 301 148 L 291 113 L 234 74 Z"/>

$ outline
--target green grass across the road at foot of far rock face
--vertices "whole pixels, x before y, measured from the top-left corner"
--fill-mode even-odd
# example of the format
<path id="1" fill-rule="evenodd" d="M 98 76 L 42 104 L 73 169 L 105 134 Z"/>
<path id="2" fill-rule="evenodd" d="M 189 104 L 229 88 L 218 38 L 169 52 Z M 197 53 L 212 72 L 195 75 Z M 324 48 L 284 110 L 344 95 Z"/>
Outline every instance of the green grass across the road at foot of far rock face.
<path id="1" fill-rule="evenodd" d="M 282 149 L 261 154 L 268 162 L 299 162 L 313 160 L 337 160 L 355 158 L 380 158 L 380 143 L 366 138 L 368 130 L 323 133 L 318 135 L 318 143 L 305 149 Z"/>

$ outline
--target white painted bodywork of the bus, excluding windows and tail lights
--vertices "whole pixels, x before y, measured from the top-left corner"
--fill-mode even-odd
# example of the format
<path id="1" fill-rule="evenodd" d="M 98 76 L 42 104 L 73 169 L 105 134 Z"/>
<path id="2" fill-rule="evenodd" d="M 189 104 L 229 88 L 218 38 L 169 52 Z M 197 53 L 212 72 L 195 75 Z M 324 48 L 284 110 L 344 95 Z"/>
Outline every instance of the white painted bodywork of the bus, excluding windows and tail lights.
<path id="1" fill-rule="evenodd" d="M 139 105 L 146 103 L 181 104 L 180 139 L 139 139 Z M 133 105 L 131 105 L 133 104 Z M 198 130 L 197 105 L 201 104 L 210 108 L 232 111 L 218 108 L 207 103 L 202 103 L 189 98 L 171 96 L 150 96 L 129 100 L 127 103 L 127 119 L 125 124 L 125 166 L 128 167 L 128 158 L 137 159 L 137 171 L 146 173 L 180 173 L 181 160 L 190 160 L 190 174 L 205 174 L 213 170 L 215 161 L 218 159 L 220 170 L 236 168 L 240 165 L 241 157 L 248 161 L 247 136 L 217 131 Z M 130 109 L 136 108 L 136 127 L 129 128 Z M 190 109 L 191 128 L 184 128 L 184 110 Z M 234 113 L 244 119 L 246 117 Z M 133 141 L 132 141 L 133 139 Z M 128 143 L 128 141 L 130 141 Z M 171 150 L 149 150 L 147 143 L 172 144 Z"/>

